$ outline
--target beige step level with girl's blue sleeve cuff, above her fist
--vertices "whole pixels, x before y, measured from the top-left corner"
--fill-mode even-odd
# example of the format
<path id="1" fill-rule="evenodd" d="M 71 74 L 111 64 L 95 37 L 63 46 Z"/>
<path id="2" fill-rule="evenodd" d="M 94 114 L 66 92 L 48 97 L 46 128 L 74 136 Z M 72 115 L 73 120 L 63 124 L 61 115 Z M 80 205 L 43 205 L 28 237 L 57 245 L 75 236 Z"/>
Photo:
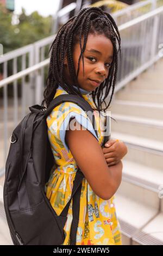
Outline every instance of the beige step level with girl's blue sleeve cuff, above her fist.
<path id="1" fill-rule="evenodd" d="M 122 114 L 111 114 L 111 116 L 116 120 L 111 124 L 112 130 L 115 132 L 163 142 L 163 121 Z"/>

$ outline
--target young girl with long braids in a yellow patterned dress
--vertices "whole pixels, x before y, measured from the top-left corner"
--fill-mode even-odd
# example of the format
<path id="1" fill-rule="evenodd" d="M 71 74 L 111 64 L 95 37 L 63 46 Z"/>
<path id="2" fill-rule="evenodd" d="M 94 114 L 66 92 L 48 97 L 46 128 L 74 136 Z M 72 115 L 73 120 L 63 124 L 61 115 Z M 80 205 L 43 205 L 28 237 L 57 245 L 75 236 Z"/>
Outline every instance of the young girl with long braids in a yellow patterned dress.
<path id="1" fill-rule="evenodd" d="M 58 215 L 71 197 L 78 167 L 85 176 L 76 245 L 121 245 L 114 194 L 121 183 L 121 159 L 127 148 L 118 140 L 111 140 L 108 148 L 107 145 L 102 148 L 104 137 L 99 126 L 100 115 L 97 114 L 110 89 L 109 105 L 114 93 L 117 43 L 120 50 L 120 34 L 112 17 L 99 8 L 84 8 L 60 28 L 51 47 L 42 105 L 46 101 L 48 107 L 53 98 L 71 93 L 83 97 L 96 109 L 98 137 L 83 109 L 75 103 L 61 103 L 47 118 L 57 168 L 52 169 L 46 195 Z M 67 129 L 72 121 L 75 121 L 76 129 Z M 72 202 L 64 227 L 63 245 L 70 245 L 71 223 Z"/>

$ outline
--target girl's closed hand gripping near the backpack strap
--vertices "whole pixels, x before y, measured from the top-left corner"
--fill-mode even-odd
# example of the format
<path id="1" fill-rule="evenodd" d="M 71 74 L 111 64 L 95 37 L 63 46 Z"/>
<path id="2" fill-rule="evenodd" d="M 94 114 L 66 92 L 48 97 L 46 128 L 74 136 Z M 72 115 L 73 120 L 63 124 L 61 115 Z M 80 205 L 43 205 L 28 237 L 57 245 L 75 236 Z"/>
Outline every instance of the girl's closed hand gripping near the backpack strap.
<path id="1" fill-rule="evenodd" d="M 110 139 L 110 141 L 106 142 L 102 150 L 108 166 L 117 164 L 127 154 L 126 145 L 115 139 Z"/>

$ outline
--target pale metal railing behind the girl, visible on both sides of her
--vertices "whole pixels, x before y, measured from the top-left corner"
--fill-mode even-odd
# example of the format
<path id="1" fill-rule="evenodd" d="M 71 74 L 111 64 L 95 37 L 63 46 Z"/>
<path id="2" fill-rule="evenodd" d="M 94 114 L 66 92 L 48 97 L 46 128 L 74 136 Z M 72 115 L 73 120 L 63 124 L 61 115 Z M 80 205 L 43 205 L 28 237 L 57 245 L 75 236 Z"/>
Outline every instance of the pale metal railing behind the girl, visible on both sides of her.
<path id="1" fill-rule="evenodd" d="M 161 58 L 159 45 L 163 43 L 163 7 L 118 28 L 122 39 L 122 58 L 115 92 Z M 0 81 L 0 88 L 3 88 L 3 102 L 0 102 L 0 175 L 4 174 L 9 138 L 14 127 L 28 113 L 30 105 L 41 103 L 49 64 L 46 52 L 53 40 L 54 36 L 49 36 L 0 58 L 0 70 L 3 70 L 3 80 Z M 9 65 L 12 74 L 8 74 Z M 19 97 L 17 88 L 21 88 Z M 9 90 L 12 90 L 13 99 L 9 97 Z"/>

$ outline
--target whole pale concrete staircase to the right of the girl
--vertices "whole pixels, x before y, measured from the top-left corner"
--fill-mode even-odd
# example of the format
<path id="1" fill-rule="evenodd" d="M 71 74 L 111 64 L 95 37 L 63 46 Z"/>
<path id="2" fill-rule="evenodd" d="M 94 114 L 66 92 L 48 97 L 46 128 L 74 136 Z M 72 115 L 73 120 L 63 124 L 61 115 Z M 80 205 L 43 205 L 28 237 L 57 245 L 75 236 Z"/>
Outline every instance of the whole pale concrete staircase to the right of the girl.
<path id="1" fill-rule="evenodd" d="M 112 139 L 127 144 L 116 193 L 123 245 L 163 245 L 163 58 L 119 90 Z M 161 194 L 162 191 L 162 194 Z"/>

